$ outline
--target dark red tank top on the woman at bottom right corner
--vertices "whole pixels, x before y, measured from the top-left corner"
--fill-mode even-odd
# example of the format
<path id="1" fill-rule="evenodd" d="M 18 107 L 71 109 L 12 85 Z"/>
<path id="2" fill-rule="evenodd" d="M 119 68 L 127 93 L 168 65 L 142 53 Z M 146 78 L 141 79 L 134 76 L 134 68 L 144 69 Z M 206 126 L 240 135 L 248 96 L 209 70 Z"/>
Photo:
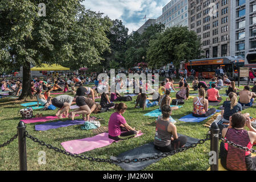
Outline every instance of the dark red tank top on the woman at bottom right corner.
<path id="1" fill-rule="evenodd" d="M 234 142 L 243 147 L 251 149 L 253 144 L 250 142 L 248 132 L 246 130 L 236 130 L 233 128 L 228 129 L 226 133 L 227 140 Z M 246 171 L 246 160 L 245 157 L 250 155 L 250 151 L 243 151 L 238 148 L 232 147 L 225 143 L 225 149 L 228 151 L 226 157 L 226 167 L 232 171 Z"/>

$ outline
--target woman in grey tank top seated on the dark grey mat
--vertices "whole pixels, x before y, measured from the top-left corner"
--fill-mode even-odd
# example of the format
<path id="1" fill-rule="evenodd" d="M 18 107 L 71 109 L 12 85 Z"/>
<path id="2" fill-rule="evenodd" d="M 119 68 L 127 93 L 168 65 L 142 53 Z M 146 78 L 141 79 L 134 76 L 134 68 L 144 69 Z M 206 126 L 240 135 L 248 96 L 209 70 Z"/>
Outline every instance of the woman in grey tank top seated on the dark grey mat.
<path id="1" fill-rule="evenodd" d="M 171 106 L 164 105 L 162 108 L 163 117 L 156 121 L 154 146 L 156 150 L 161 152 L 177 150 L 177 148 L 184 147 L 187 143 L 187 137 L 178 138 L 176 126 L 170 122 L 171 113 Z"/>

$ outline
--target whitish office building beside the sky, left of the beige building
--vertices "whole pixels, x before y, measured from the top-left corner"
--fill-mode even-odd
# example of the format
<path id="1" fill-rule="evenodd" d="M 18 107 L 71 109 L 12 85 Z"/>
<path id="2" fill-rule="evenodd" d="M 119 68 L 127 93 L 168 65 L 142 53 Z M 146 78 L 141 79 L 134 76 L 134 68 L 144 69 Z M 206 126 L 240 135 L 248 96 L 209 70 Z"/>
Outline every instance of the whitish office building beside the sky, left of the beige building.
<path id="1" fill-rule="evenodd" d="M 162 23 L 166 27 L 188 26 L 188 0 L 172 0 L 167 3 L 156 23 Z"/>

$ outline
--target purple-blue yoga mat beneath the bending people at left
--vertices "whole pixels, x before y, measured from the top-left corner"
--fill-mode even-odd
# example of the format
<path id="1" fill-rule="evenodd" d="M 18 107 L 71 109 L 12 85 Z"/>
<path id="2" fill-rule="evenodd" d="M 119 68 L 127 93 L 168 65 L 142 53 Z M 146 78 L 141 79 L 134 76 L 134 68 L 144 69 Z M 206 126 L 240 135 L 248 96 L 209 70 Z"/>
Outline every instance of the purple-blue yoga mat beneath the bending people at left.
<path id="1" fill-rule="evenodd" d="M 51 122 L 51 123 L 43 123 L 42 125 L 35 125 L 35 130 L 36 131 L 47 131 L 50 129 L 57 129 L 59 127 L 67 127 L 67 126 L 72 126 L 72 125 L 83 125 L 84 120 L 82 119 L 77 119 L 74 121 L 57 121 L 57 122 Z"/>

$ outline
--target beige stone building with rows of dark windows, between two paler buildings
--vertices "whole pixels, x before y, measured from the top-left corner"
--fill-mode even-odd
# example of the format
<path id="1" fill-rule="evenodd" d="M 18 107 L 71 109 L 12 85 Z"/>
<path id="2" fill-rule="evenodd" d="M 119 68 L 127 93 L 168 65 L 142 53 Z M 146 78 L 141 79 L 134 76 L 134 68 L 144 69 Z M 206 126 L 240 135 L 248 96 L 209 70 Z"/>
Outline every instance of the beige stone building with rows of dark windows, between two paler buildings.
<path id="1" fill-rule="evenodd" d="M 188 27 L 201 38 L 205 58 L 230 56 L 230 1 L 188 1 Z"/>

